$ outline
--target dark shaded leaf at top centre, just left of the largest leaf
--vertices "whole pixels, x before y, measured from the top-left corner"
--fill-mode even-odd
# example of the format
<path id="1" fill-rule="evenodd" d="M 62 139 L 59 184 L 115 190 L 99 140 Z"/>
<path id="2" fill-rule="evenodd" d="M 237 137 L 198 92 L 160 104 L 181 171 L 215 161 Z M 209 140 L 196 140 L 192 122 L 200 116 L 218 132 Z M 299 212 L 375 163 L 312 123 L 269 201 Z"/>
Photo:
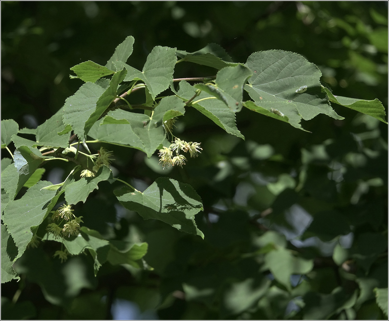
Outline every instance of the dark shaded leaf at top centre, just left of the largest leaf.
<path id="1" fill-rule="evenodd" d="M 228 56 L 226 50 L 216 43 L 209 43 L 203 49 L 195 52 L 186 52 L 177 50 L 176 55 L 183 59 L 183 61 L 195 62 L 196 64 L 222 69 L 227 66 L 236 66 L 237 64 L 231 62 L 231 57 Z"/>

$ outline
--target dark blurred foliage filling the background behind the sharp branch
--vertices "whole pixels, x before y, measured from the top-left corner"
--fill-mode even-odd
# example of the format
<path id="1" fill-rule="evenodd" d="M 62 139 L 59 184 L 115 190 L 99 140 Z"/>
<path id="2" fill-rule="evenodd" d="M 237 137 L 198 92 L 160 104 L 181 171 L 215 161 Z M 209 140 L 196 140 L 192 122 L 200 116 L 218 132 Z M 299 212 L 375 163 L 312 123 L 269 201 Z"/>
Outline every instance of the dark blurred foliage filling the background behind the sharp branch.
<path id="1" fill-rule="evenodd" d="M 378 98 L 387 110 L 387 2 L 2 1 L 1 10 L 1 117 L 16 120 L 19 128 L 36 128 L 74 94 L 82 82 L 68 77 L 69 68 L 87 60 L 104 65 L 128 35 L 135 38 L 128 63 L 137 69 L 156 45 L 193 52 L 214 42 L 242 63 L 260 50 L 297 52 L 321 69 L 322 83 L 334 94 Z M 180 63 L 174 78 L 214 74 L 212 68 Z M 143 97 L 133 99 L 142 103 Z M 69 261 L 74 271 L 88 270 L 84 278 L 73 279 L 83 282 L 78 290 L 72 283 L 60 284 L 63 276 L 58 276 L 58 284 L 49 284 L 32 265 L 51 271 L 45 273 L 53 273 L 52 280 L 57 278 L 54 274 L 73 270 L 67 265 L 65 271 L 55 259 L 47 267 L 43 262 L 57 245 L 45 242 L 21 258 L 26 271 L 21 281 L 2 285 L 2 305 L 3 298 L 12 300 L 22 290 L 18 308 L 5 304 L 2 313 L 20 313 L 16 319 L 105 319 L 112 317 L 111 305 L 119 298 L 136 302 L 140 311 L 154 311 L 161 300 L 158 311 L 150 312 L 160 319 L 282 319 L 286 309 L 291 312 L 288 318 L 297 319 L 384 318 L 372 288 L 387 287 L 387 125 L 351 109 L 333 108 L 345 120 L 321 114 L 302 121 L 312 133 L 244 109 L 237 114 L 237 127 L 245 141 L 188 109 L 176 124 L 176 133 L 186 141 L 202 142 L 203 152 L 170 173 L 161 172 L 155 162 L 145 163 L 140 151 L 110 147 L 118 177 L 132 179 L 138 189 L 161 175 L 193 186 L 204 204 L 204 212 L 196 215 L 204 241 L 123 212 L 112 188 L 102 184 L 76 210 L 82 212 L 86 226 L 107 237 L 147 241 L 145 260 L 154 271 L 131 273 L 106 263 L 95 279 L 89 276 L 91 258 L 80 256 Z M 9 147 L 14 150 L 12 144 Z M 2 157 L 6 156 L 3 153 L 4 149 Z M 42 179 L 62 181 L 70 167 L 56 166 L 45 165 Z M 249 278 L 256 284 L 269 274 L 258 272 L 260 256 L 244 256 L 258 248 L 252 235 L 277 228 L 282 234 L 280 226 L 293 229 L 284 215 L 293 204 L 314 217 L 298 238 L 319 238 L 312 246 L 287 245 L 301 257 L 314 259 L 314 270 L 305 277 L 310 290 L 296 290 L 290 296 L 273 280 L 273 289 L 279 292 L 269 292 L 259 309 L 229 310 L 221 298 L 231 291 L 231 284 Z M 265 216 L 269 208 L 273 212 Z M 354 239 L 349 245 L 341 242 L 348 251 L 347 263 L 332 259 L 337 239 L 323 243 L 340 234 Z M 323 250 L 325 246 L 329 250 Z M 207 300 L 191 300 L 183 283 L 215 293 Z M 72 289 L 74 295 L 59 293 Z M 242 304 L 252 294 L 246 292 L 239 294 Z M 344 305 L 353 293 L 358 295 L 354 307 Z M 302 309 L 298 300 L 290 304 L 296 297 L 303 298 Z M 294 312 L 291 306 L 296 307 Z"/>

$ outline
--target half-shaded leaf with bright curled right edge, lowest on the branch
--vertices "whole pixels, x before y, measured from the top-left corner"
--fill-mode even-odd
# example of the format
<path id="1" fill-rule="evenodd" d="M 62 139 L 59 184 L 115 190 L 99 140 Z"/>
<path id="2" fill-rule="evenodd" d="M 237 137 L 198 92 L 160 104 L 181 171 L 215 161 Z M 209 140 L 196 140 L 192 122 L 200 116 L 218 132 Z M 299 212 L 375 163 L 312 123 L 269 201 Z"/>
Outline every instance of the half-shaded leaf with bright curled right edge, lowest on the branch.
<path id="1" fill-rule="evenodd" d="M 115 244 L 115 242 L 113 244 L 111 243 L 107 258 L 108 262 L 112 265 L 138 265 L 135 261 L 142 259 L 147 253 L 147 243 L 133 244 L 129 249 L 124 250 L 119 250 Z"/>

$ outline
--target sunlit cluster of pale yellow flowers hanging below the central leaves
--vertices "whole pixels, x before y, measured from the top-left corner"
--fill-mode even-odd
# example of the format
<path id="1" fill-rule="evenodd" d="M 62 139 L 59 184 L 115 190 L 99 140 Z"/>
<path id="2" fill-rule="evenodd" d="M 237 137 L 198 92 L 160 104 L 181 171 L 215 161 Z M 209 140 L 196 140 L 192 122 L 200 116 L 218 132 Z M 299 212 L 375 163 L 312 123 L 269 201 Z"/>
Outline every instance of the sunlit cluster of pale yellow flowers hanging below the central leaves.
<path id="1" fill-rule="evenodd" d="M 160 157 L 159 164 L 165 168 L 166 166 L 185 165 L 186 157 L 180 155 L 180 150 L 184 153 L 189 152 L 191 157 L 196 157 L 197 153 L 201 153 L 202 148 L 200 148 L 200 143 L 194 142 L 185 142 L 181 141 L 179 138 L 176 138 L 175 141 L 170 144 L 169 147 L 163 147 L 159 149 L 158 156 Z M 176 152 L 176 156 L 173 156 L 173 151 Z"/>

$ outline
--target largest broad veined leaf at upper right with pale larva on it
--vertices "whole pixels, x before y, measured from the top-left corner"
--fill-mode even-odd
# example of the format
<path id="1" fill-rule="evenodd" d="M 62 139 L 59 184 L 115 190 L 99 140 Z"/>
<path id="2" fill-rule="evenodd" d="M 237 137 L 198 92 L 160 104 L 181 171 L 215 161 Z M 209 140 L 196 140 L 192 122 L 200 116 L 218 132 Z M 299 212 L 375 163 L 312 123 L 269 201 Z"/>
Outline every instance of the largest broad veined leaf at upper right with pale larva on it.
<path id="1" fill-rule="evenodd" d="M 320 70 L 299 54 L 282 50 L 254 52 L 246 66 L 252 71 L 252 77 L 245 90 L 255 102 L 275 102 L 273 108 L 277 110 L 285 106 L 277 102 L 293 102 L 304 120 L 319 114 L 343 119 L 321 92 Z M 305 91 L 296 92 L 305 86 Z"/>

